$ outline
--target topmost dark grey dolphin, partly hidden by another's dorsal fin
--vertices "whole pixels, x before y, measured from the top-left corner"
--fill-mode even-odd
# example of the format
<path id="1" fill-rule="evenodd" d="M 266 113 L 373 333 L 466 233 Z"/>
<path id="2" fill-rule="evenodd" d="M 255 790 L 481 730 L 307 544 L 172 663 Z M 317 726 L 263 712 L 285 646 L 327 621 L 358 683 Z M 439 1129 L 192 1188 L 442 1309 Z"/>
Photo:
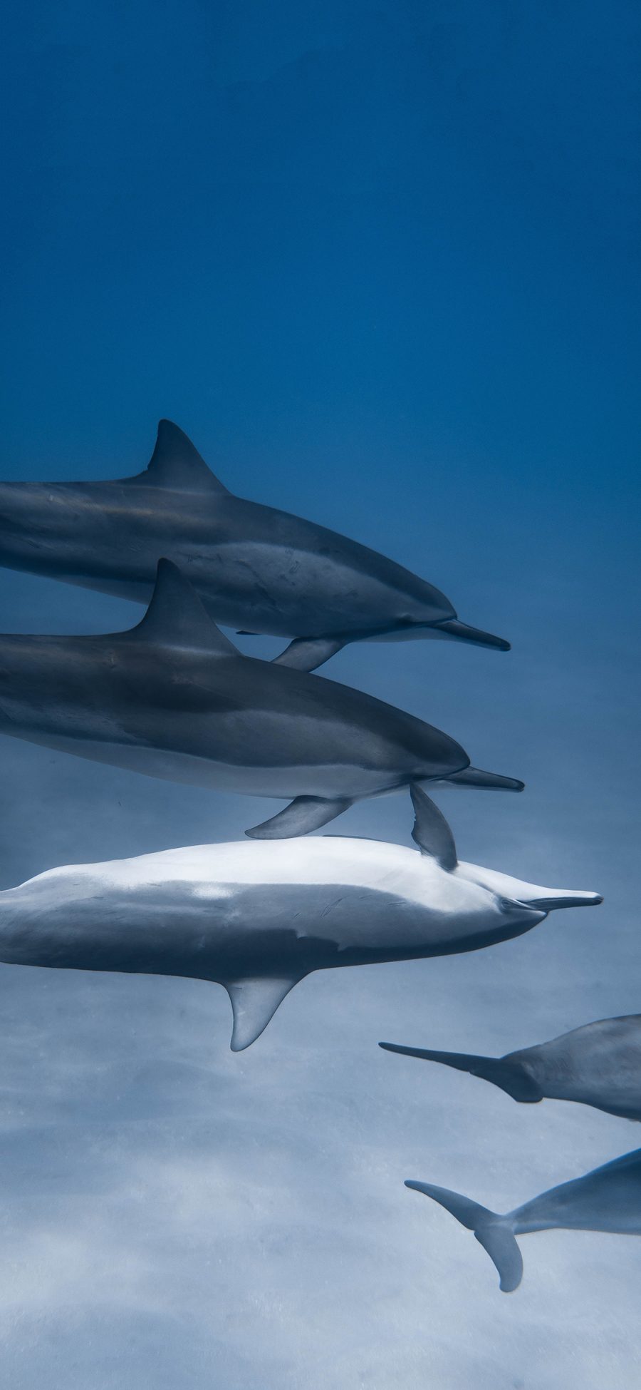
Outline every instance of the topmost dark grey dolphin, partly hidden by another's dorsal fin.
<path id="1" fill-rule="evenodd" d="M 311 671 L 347 642 L 436 637 L 509 651 L 438 589 L 347 537 L 229 492 L 161 420 L 144 473 L 117 482 L 0 484 L 0 564 L 147 603 L 166 555 L 218 623 L 291 637 Z"/>

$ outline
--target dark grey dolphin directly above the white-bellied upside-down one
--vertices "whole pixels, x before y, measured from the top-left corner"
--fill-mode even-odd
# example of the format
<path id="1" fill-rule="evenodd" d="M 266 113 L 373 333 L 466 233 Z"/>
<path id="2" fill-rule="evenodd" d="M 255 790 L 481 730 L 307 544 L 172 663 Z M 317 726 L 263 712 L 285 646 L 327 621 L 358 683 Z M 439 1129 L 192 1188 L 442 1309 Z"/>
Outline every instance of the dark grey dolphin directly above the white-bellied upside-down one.
<path id="1" fill-rule="evenodd" d="M 302 835 L 412 781 L 522 783 L 347 685 L 241 656 L 169 560 L 143 621 L 108 637 L 0 637 L 0 731 L 169 781 L 294 801 L 248 834 Z"/>

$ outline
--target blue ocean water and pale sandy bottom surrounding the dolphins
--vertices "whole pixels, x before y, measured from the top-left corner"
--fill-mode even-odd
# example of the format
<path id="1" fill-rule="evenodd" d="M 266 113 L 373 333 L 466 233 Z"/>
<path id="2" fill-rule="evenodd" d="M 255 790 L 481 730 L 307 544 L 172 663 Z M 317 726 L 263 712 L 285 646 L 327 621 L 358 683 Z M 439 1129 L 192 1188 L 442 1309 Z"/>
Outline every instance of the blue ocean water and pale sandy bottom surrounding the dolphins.
<path id="1" fill-rule="evenodd" d="M 506 1211 L 637 1126 L 376 1042 L 641 1012 L 637 7 L 58 0 L 4 38 L 1 478 L 140 471 L 169 416 L 233 492 L 434 582 L 512 652 L 354 645 L 327 676 L 523 777 L 438 794 L 462 858 L 605 898 L 311 976 L 239 1055 L 218 986 L 1 966 L 6 1382 L 633 1390 L 641 1240 L 527 1237 L 506 1298 L 402 1180 Z M 1 631 L 140 613 L 0 571 Z M 3 887 L 269 813 L 0 748 Z M 411 827 L 401 795 L 336 828 Z"/>

